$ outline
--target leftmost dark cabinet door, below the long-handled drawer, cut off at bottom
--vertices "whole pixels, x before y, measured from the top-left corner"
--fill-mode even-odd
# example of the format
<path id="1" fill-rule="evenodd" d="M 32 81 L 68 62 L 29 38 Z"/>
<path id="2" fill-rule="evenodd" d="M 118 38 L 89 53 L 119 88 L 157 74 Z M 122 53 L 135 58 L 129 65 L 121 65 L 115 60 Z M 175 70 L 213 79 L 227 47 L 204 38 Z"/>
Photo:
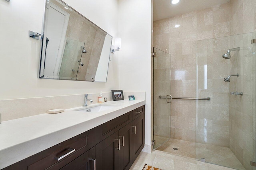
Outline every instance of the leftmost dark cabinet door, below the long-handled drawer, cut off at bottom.
<path id="1" fill-rule="evenodd" d="M 95 147 L 93 147 L 60 170 L 96 170 L 95 162 Z"/>

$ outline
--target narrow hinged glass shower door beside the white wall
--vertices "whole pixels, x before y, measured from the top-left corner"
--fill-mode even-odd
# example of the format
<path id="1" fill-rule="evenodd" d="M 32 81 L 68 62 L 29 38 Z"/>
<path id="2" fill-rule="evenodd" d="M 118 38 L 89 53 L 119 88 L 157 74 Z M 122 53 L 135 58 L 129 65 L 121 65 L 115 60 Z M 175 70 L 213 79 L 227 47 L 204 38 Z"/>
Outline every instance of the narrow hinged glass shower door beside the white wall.
<path id="1" fill-rule="evenodd" d="M 155 150 L 171 136 L 171 55 L 154 47 L 153 141 Z"/>

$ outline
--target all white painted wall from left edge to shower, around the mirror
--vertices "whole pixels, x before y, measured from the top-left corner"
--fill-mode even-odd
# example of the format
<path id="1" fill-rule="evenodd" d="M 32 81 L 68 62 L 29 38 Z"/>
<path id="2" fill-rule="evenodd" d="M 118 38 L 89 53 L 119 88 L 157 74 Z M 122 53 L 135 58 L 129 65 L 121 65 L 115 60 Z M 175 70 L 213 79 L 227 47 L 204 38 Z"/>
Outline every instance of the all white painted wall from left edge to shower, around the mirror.
<path id="1" fill-rule="evenodd" d="M 28 37 L 28 30 L 42 31 L 44 2 L 0 0 L 0 100 L 113 89 L 146 91 L 145 143 L 150 145 L 151 1 L 65 1 L 112 35 L 113 40 L 122 38 L 121 51 L 111 53 L 106 83 L 38 78 L 40 41 Z"/>

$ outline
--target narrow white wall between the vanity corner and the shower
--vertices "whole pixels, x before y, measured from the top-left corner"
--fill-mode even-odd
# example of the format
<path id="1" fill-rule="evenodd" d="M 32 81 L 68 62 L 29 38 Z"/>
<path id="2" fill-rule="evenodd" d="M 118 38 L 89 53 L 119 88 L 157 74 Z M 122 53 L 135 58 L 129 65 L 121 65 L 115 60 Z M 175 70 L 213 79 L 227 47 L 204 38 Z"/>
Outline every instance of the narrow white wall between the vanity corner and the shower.
<path id="1" fill-rule="evenodd" d="M 151 0 L 119 0 L 119 88 L 146 92 L 145 144 L 151 145 Z"/>

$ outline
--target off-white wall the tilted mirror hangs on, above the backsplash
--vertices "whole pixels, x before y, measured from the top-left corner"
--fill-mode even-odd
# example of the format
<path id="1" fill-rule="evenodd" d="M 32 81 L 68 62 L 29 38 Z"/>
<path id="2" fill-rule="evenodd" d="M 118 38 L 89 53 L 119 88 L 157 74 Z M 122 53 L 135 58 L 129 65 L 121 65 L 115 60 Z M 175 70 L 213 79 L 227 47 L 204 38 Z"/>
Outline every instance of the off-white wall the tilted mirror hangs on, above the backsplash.
<path id="1" fill-rule="evenodd" d="M 118 35 L 118 0 L 65 0 L 114 38 Z M 45 0 L 0 0 L 0 100 L 109 92 L 118 88 L 118 53 L 111 54 L 107 83 L 38 78 Z"/>

